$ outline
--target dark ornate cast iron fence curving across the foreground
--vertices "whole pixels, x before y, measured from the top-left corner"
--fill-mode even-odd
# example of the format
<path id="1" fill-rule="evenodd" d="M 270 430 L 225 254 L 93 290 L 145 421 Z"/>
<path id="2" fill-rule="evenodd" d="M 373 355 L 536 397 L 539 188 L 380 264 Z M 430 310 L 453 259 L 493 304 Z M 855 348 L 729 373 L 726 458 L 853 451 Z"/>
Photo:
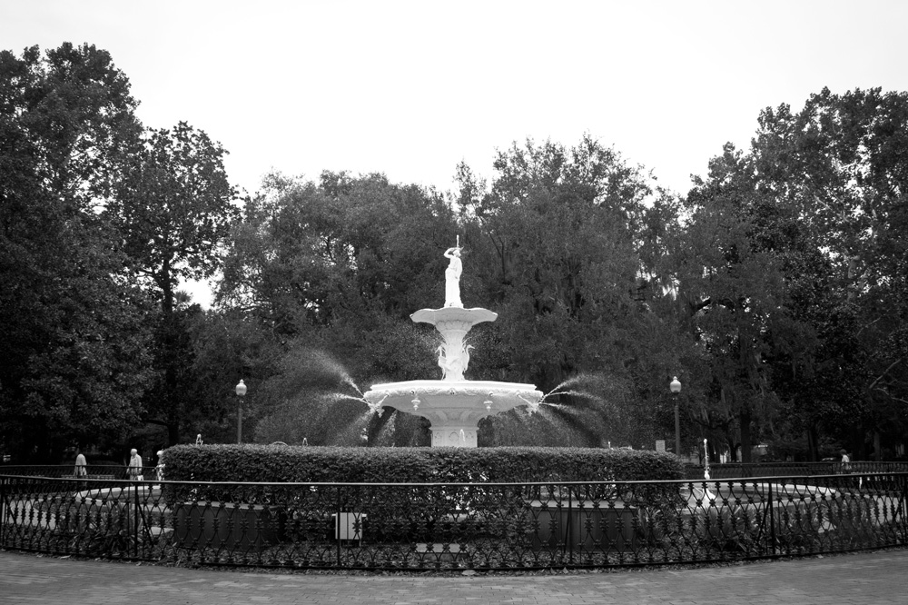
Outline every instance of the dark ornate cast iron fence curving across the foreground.
<path id="1" fill-rule="evenodd" d="M 906 500 L 905 472 L 469 484 L 4 472 L 0 547 L 291 569 L 598 568 L 903 547 Z"/>

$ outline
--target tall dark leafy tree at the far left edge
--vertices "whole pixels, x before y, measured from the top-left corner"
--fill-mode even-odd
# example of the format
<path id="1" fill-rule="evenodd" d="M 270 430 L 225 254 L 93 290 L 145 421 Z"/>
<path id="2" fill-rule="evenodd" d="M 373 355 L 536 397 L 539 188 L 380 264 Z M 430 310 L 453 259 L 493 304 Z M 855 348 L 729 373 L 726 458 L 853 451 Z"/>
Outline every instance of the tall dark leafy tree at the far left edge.
<path id="1" fill-rule="evenodd" d="M 95 213 L 139 132 L 135 105 L 94 46 L 0 52 L 0 415 L 23 457 L 121 438 L 141 412 L 143 294 Z"/>

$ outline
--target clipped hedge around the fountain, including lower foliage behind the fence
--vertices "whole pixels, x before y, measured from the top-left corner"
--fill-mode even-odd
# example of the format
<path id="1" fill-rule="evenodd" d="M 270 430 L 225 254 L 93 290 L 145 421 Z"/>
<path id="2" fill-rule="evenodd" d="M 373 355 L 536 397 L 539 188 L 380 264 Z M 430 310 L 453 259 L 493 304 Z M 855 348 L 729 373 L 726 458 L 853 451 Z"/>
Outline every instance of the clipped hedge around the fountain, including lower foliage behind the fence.
<path id="1" fill-rule="evenodd" d="M 165 498 L 170 503 L 278 505 L 286 515 L 288 536 L 301 542 L 325 533 L 331 515 L 339 510 L 362 513 L 368 520 L 370 536 L 376 540 L 429 541 L 430 536 L 439 539 L 451 532 L 496 533 L 499 521 L 526 516 L 529 501 L 565 498 L 560 482 L 605 482 L 571 490 L 577 494 L 574 497 L 605 500 L 616 495 L 620 481 L 676 480 L 683 476 L 683 467 L 672 454 L 581 448 L 211 445 L 177 446 L 164 453 L 164 460 L 168 481 L 187 481 L 165 486 Z M 331 485 L 301 488 L 275 483 L 397 485 L 360 489 Z M 400 485 L 406 483 L 433 485 Z M 471 489 L 452 487 L 451 483 L 544 485 L 528 489 Z M 634 500 L 656 496 L 656 486 L 626 487 L 628 493 L 634 494 Z M 623 495 L 625 490 L 621 491 Z"/>

